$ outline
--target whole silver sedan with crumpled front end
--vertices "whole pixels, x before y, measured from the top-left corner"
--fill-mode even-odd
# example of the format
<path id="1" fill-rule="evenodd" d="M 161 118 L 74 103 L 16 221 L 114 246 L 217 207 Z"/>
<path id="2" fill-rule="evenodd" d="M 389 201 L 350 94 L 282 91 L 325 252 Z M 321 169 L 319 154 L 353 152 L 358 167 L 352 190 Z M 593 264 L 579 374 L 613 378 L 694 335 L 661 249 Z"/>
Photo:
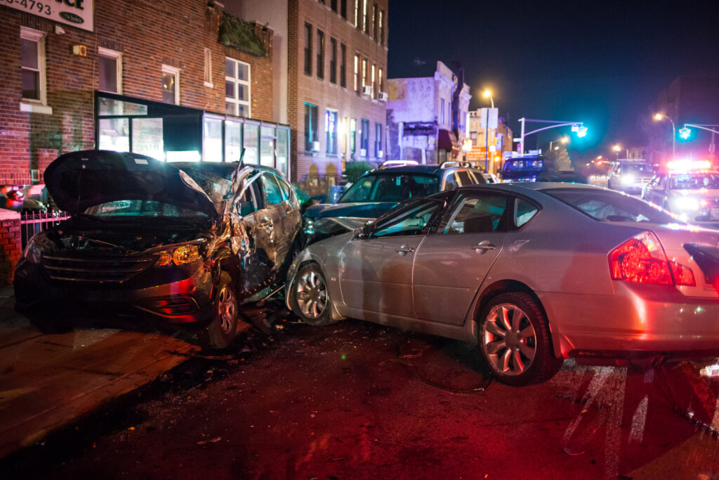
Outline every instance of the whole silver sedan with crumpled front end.
<path id="1" fill-rule="evenodd" d="M 719 231 L 596 186 L 462 187 L 309 245 L 286 298 L 313 325 L 352 317 L 477 343 L 499 381 L 522 386 L 564 358 L 718 355 L 719 292 L 685 243 L 715 247 Z"/>

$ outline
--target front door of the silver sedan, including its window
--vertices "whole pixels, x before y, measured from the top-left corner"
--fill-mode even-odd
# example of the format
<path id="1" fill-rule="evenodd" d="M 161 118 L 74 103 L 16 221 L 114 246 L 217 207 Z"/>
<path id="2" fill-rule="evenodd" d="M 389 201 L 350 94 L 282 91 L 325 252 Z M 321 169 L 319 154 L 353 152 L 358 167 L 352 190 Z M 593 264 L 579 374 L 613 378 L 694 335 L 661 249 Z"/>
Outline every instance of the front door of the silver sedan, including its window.
<path id="1" fill-rule="evenodd" d="M 354 237 L 345 245 L 339 258 L 339 284 L 354 315 L 414 316 L 414 254 L 443 205 L 444 197 L 410 201 L 378 219 L 368 237 Z"/>

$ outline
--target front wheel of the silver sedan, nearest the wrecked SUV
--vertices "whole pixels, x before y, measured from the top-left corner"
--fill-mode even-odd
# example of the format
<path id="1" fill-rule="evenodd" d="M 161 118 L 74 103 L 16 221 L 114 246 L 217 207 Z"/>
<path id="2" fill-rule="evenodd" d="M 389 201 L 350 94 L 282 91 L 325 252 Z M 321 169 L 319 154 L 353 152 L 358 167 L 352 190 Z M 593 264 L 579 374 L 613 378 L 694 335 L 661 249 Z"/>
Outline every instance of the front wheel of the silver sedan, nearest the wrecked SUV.
<path id="1" fill-rule="evenodd" d="M 321 268 L 316 263 L 301 267 L 289 289 L 292 311 L 309 325 L 329 325 L 331 302 L 329 288 Z"/>

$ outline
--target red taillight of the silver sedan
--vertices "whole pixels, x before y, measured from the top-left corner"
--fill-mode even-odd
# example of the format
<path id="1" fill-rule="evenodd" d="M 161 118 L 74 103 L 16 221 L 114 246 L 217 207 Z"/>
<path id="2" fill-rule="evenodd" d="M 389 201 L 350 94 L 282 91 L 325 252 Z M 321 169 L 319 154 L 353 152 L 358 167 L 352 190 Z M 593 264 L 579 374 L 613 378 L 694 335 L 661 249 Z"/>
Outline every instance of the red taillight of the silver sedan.
<path id="1" fill-rule="evenodd" d="M 659 238 L 653 232 L 641 232 L 609 253 L 613 279 L 638 284 L 695 286 L 692 269 L 669 262 Z"/>

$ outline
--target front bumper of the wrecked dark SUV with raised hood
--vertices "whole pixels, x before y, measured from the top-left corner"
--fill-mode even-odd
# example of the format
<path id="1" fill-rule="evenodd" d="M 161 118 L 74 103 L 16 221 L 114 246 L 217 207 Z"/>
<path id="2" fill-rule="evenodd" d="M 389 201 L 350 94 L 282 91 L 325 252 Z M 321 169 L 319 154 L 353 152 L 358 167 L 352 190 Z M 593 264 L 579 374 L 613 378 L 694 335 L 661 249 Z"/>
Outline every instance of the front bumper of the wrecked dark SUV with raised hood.
<path id="1" fill-rule="evenodd" d="M 199 262 L 198 262 L 199 263 Z M 214 318 L 211 271 L 201 263 L 150 272 L 124 284 L 58 282 L 21 259 L 15 271 L 15 308 L 67 325 L 93 323 L 192 330 Z"/>

